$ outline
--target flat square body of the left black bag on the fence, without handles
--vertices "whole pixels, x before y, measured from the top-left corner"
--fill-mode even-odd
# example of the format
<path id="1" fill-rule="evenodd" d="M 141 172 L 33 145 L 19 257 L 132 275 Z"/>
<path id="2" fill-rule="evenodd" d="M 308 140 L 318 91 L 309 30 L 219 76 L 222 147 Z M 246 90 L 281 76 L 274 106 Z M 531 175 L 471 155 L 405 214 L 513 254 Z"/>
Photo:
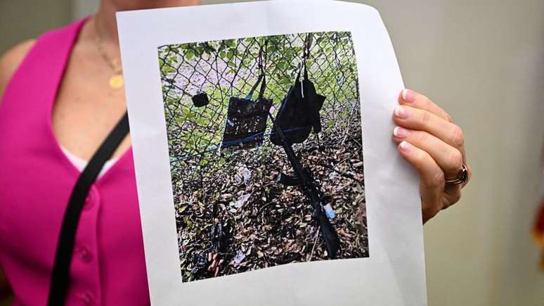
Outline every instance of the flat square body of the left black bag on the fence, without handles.
<path id="1" fill-rule="evenodd" d="M 257 101 L 231 97 L 221 149 L 231 150 L 255 148 L 263 143 L 268 112 L 272 100 L 258 98 Z"/>

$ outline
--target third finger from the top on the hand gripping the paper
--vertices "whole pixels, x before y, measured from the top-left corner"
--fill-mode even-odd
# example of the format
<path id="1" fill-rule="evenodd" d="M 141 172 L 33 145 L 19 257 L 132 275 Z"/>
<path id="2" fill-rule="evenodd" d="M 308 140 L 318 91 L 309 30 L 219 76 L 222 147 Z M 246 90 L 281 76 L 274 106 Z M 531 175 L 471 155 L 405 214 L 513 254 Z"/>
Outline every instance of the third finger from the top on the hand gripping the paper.
<path id="1" fill-rule="evenodd" d="M 462 170 L 462 153 L 432 134 L 395 127 L 393 139 L 397 143 L 408 141 L 408 143 L 429 153 L 446 174 L 446 179 L 457 177 Z"/>

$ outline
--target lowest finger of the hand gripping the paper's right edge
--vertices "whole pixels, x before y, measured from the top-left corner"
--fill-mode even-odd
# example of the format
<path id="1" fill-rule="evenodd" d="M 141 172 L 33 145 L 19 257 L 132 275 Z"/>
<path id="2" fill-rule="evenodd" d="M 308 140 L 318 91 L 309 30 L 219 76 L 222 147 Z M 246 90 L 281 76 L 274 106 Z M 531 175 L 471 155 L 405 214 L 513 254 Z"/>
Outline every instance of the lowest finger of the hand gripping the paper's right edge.
<path id="1" fill-rule="evenodd" d="M 427 221 L 443 208 L 444 173 L 429 153 L 407 141 L 399 144 L 399 151 L 420 175 L 423 220 Z"/>

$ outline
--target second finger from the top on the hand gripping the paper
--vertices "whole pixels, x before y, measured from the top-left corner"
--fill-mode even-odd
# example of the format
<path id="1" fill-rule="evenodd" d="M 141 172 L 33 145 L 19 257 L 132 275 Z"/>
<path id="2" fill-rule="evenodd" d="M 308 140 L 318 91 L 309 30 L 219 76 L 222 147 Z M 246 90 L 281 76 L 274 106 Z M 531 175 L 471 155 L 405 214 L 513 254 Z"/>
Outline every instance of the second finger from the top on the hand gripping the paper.
<path id="1" fill-rule="evenodd" d="M 462 129 L 427 110 L 410 106 L 397 106 L 393 120 L 406 129 L 428 132 L 465 155 L 465 136 Z"/>

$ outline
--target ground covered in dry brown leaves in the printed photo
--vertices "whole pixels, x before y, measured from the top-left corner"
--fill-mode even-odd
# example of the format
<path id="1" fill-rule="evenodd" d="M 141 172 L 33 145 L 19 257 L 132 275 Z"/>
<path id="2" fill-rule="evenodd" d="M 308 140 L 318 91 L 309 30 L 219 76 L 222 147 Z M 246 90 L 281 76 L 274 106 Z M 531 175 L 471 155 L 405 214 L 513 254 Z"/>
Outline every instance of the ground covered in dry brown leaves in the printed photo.
<path id="1" fill-rule="evenodd" d="M 353 115 L 349 127 L 324 129 L 320 139 L 312 135 L 294 146 L 335 210 L 331 223 L 341 242 L 337 259 L 369 256 L 363 141 L 358 111 Z M 219 276 L 328 259 L 308 198 L 299 187 L 277 181 L 280 172 L 294 174 L 283 148 L 265 139 L 252 150 L 203 158 L 188 161 L 173 178 L 183 281 L 214 276 L 191 270 L 199 256 L 210 252 L 210 229 L 218 223 L 227 237 Z"/>

